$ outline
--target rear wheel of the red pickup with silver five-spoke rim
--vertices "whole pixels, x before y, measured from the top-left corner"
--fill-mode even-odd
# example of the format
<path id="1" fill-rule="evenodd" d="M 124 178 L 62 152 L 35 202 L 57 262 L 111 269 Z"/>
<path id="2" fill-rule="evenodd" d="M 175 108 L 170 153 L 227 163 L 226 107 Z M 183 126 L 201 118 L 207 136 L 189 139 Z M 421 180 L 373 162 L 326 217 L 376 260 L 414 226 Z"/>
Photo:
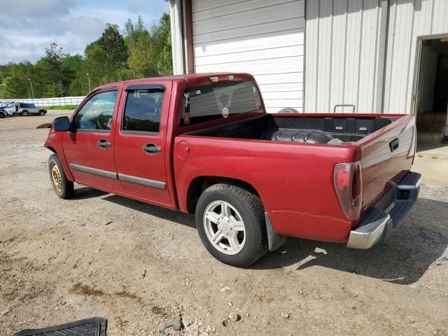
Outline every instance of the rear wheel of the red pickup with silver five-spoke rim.
<path id="1" fill-rule="evenodd" d="M 247 267 L 267 253 L 265 214 L 260 198 L 253 193 L 215 184 L 200 196 L 195 216 L 202 243 L 221 262 Z"/>

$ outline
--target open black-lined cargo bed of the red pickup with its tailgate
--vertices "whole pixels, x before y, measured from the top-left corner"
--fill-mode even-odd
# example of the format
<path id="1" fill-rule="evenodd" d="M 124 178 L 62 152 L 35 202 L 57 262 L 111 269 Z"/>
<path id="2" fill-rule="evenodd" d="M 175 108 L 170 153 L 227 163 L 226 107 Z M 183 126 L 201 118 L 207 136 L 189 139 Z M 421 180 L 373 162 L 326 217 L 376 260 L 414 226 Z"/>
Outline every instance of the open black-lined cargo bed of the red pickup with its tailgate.
<path id="1" fill-rule="evenodd" d="M 305 151 L 303 146 L 316 146 L 315 153 L 323 151 L 322 145 L 328 148 L 337 146 L 341 150 L 340 153 L 342 148 L 350 147 L 353 150 L 355 146 L 360 152 L 358 160 L 362 167 L 363 180 L 361 212 L 365 214 L 391 190 L 393 183 L 398 183 L 410 171 L 415 151 L 414 125 L 415 118 L 412 115 L 266 113 L 185 135 L 210 139 L 226 138 L 226 144 L 232 139 L 255 140 L 259 143 L 258 148 L 262 143 L 276 143 L 279 146 L 293 143 L 298 146 L 298 156 L 308 152 L 308 148 Z M 281 152 L 282 148 L 278 148 L 278 151 Z M 302 174 L 303 178 L 302 167 L 297 166 L 297 174 Z M 329 176 L 325 176 L 325 179 Z"/>

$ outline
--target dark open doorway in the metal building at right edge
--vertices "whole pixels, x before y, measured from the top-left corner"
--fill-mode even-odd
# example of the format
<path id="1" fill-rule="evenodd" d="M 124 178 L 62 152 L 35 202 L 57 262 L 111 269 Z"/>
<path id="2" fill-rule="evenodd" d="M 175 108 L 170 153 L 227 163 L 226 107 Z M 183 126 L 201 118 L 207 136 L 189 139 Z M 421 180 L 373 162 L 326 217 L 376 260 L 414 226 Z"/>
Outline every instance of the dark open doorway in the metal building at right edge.
<path id="1" fill-rule="evenodd" d="M 415 92 L 419 146 L 438 148 L 448 140 L 448 35 L 419 42 Z"/>

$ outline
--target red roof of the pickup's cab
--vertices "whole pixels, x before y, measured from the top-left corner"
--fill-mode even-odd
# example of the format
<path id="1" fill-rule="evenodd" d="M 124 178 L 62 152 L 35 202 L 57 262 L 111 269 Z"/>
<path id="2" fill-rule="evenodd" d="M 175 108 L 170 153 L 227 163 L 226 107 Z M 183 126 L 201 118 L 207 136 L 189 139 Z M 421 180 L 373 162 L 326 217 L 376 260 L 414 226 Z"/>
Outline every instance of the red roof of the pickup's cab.
<path id="1" fill-rule="evenodd" d="M 206 85 L 211 83 L 211 77 L 225 77 L 225 76 L 234 76 L 234 80 L 253 80 L 253 76 L 249 73 L 233 73 L 233 72 L 210 72 L 210 73 L 186 73 L 182 75 L 170 75 L 170 76 L 159 76 L 159 77 L 151 77 L 151 78 L 141 78 L 141 79 L 132 79 L 132 80 L 123 80 L 120 82 L 109 83 L 101 85 L 94 90 L 102 90 L 108 87 L 114 87 L 120 84 L 143 84 L 158 80 L 173 80 L 176 82 L 180 82 L 186 80 L 189 86 L 196 85 Z"/>

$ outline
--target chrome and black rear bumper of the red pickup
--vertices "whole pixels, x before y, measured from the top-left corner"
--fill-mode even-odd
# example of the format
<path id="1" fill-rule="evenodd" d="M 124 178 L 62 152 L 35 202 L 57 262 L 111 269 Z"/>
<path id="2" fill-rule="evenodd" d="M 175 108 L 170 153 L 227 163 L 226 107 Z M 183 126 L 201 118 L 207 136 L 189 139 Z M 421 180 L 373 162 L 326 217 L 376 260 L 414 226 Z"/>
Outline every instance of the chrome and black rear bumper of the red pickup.
<path id="1" fill-rule="evenodd" d="M 407 174 L 364 216 L 358 227 L 351 230 L 347 247 L 371 248 L 388 239 L 414 206 L 420 182 L 421 174 Z"/>

